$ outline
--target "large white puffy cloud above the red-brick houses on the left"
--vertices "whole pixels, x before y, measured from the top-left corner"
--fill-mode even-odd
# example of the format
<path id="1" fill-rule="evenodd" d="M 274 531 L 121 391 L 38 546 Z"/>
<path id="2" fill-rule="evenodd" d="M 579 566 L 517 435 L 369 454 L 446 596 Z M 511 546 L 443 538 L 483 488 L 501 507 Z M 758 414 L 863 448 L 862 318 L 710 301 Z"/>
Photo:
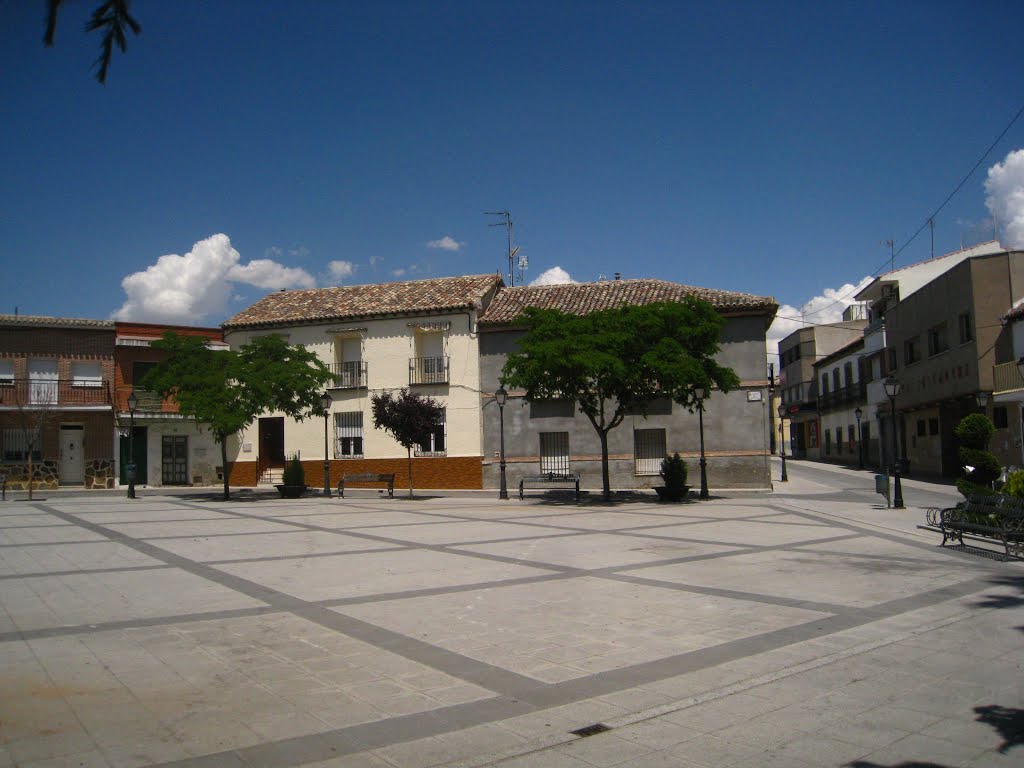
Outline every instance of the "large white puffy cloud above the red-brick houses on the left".
<path id="1" fill-rule="evenodd" d="M 226 234 L 201 240 L 183 256 L 161 256 L 155 264 L 121 281 L 127 299 L 113 317 L 196 325 L 224 317 L 233 293 L 232 283 L 269 290 L 315 286 L 304 269 L 270 259 L 255 259 L 248 264 L 241 261 L 242 256 Z"/>

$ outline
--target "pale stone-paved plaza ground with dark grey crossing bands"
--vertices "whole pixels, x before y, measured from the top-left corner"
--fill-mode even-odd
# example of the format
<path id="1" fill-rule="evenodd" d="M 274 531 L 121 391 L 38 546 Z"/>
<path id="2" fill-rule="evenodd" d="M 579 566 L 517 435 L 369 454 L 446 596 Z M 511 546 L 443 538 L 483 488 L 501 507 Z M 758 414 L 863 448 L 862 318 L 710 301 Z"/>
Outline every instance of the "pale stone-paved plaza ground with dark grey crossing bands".
<path id="1" fill-rule="evenodd" d="M 916 527 L 952 488 L 790 477 L 8 500 L 0 766 L 1024 764 L 1024 563 Z"/>

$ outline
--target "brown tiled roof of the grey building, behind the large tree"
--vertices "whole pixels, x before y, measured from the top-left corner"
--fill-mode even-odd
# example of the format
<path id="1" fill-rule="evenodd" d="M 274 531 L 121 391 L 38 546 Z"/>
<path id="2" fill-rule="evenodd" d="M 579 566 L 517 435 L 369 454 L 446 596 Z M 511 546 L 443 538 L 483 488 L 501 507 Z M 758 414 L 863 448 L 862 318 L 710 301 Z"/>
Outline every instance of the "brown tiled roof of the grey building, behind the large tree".
<path id="1" fill-rule="evenodd" d="M 770 296 L 752 296 L 713 288 L 694 288 L 665 280 L 614 280 L 557 286 L 516 286 L 499 292 L 480 317 L 481 324 L 512 323 L 528 306 L 587 314 L 624 304 L 703 299 L 721 312 L 763 311 L 774 314 L 778 304 Z"/>

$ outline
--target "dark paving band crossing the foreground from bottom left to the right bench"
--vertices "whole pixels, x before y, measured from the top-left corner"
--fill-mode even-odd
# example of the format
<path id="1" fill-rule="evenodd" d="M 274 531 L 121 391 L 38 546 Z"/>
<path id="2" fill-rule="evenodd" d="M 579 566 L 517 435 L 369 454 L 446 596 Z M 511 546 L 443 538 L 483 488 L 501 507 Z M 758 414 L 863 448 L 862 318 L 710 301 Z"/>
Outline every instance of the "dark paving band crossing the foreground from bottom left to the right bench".
<path id="1" fill-rule="evenodd" d="M 456 705 L 430 712 L 365 723 L 307 736 L 268 741 L 254 746 L 228 750 L 200 758 L 161 764 L 160 768 L 288 768 L 330 760 L 402 741 L 485 725 L 520 715 L 562 707 L 588 698 L 608 695 L 670 677 L 699 672 L 758 653 L 854 629 L 906 609 L 923 608 L 985 589 L 983 580 L 967 580 L 950 587 L 883 603 L 870 610 L 817 618 L 761 635 L 732 640 L 675 656 L 632 667 L 601 672 L 585 678 L 538 688 L 528 699 L 498 696 L 483 701 Z"/>

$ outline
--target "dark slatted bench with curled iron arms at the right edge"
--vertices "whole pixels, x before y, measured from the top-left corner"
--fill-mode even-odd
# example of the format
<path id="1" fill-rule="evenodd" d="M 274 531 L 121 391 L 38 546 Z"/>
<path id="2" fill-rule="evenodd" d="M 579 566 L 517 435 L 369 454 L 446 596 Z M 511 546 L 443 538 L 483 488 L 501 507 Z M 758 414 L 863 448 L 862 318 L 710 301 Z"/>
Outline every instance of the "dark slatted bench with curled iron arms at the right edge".
<path id="1" fill-rule="evenodd" d="M 933 507 L 926 512 L 928 524 L 946 542 L 964 545 L 964 536 L 999 542 L 1007 557 L 1024 557 L 1024 499 L 1012 496 L 972 496 L 955 507 Z"/>

